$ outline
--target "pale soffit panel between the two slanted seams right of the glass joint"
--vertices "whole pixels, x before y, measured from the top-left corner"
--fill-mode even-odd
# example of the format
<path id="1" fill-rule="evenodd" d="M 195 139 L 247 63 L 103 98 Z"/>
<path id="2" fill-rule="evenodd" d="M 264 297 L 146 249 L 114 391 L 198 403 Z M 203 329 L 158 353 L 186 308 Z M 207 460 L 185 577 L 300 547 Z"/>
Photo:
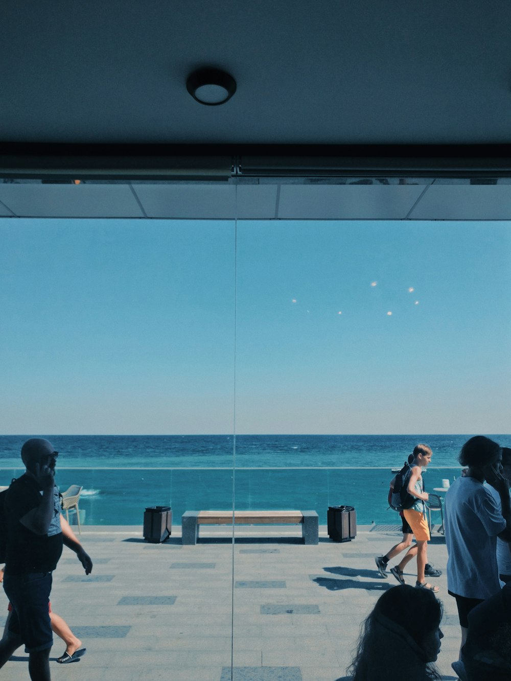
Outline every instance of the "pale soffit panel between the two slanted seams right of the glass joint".
<path id="1" fill-rule="evenodd" d="M 282 185 L 280 219 L 403 219 L 424 185 Z"/>

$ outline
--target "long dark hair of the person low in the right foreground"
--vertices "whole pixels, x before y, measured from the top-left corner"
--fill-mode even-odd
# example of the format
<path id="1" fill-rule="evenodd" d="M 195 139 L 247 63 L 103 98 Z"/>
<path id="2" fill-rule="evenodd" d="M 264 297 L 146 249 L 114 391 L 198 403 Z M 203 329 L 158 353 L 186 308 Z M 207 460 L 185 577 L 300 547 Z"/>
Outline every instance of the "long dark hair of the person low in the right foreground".
<path id="1" fill-rule="evenodd" d="M 403 585 L 385 591 L 362 622 L 354 658 L 347 669 L 352 681 L 394 681 L 396 665 L 399 678 L 407 681 L 441 680 L 435 665 L 428 663 L 425 651 L 421 654 L 420 650 L 424 638 L 438 629 L 443 612 L 441 601 L 429 589 Z M 420 650 L 410 644 L 407 650 L 404 637 L 381 626 L 382 617 L 401 627 L 402 634 L 412 637 Z"/>

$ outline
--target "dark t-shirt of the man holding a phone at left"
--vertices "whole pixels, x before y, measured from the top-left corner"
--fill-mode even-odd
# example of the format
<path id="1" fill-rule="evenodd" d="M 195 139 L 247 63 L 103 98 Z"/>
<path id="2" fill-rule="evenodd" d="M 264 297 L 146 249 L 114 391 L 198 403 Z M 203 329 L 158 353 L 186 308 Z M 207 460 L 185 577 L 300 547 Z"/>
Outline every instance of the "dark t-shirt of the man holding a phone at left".
<path id="1" fill-rule="evenodd" d="M 55 488 L 55 517 L 48 534 L 36 535 L 22 525 L 20 518 L 41 503 L 41 493 L 35 479 L 25 473 L 15 480 L 5 498 L 7 519 L 7 552 L 5 572 L 26 575 L 55 570 L 62 553 L 59 491 Z"/>

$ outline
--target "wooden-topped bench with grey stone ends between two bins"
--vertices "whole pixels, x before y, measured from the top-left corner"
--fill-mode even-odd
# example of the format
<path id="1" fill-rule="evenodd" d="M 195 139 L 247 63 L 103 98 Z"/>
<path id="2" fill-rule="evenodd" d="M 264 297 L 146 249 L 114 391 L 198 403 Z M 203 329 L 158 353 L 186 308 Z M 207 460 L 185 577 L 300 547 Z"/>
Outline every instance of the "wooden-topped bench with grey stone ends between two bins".
<path id="1" fill-rule="evenodd" d="M 234 511 L 236 525 L 301 525 L 303 543 L 319 541 L 319 518 L 315 511 Z M 185 511 L 181 516 L 183 544 L 197 543 L 200 525 L 232 525 L 232 511 Z"/>

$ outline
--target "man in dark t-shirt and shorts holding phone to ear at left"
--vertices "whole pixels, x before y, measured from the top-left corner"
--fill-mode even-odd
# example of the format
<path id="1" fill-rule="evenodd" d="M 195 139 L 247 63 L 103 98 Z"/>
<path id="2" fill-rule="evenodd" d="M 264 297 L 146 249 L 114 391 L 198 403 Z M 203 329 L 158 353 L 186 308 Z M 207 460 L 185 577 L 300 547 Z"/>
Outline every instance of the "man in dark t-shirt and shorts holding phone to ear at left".
<path id="1" fill-rule="evenodd" d="M 63 543 L 76 552 L 85 573 L 91 558 L 82 546 L 63 537 L 59 490 L 55 485 L 58 452 L 48 440 L 33 438 L 21 448 L 25 474 L 15 480 L 5 498 L 7 559 L 3 589 L 12 603 L 12 616 L 0 641 L 0 667 L 25 644 L 32 681 L 50 680 L 52 629 L 48 604 L 52 571 Z"/>

